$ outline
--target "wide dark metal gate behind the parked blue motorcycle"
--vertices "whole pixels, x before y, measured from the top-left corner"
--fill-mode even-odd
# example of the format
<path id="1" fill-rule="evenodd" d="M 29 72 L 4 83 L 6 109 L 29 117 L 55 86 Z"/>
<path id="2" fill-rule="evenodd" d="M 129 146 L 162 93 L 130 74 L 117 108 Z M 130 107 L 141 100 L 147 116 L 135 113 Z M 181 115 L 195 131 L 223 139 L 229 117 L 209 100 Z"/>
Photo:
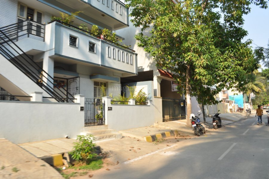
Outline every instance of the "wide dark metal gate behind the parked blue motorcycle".
<path id="1" fill-rule="evenodd" d="M 163 122 L 186 118 L 186 104 L 182 99 L 163 98 Z"/>

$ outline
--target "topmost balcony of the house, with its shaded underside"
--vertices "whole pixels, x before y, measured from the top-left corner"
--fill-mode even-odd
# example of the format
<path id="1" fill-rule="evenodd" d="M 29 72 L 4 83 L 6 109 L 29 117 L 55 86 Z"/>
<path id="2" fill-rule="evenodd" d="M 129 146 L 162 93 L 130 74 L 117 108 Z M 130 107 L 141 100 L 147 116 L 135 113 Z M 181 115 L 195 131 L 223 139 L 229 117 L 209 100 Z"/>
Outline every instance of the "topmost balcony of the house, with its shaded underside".
<path id="1" fill-rule="evenodd" d="M 22 0 L 22 2 L 24 1 L 26 0 Z M 59 16 L 59 11 L 67 14 L 82 11 L 82 13 L 77 16 L 77 19 L 91 25 L 95 24 L 109 30 L 118 30 L 129 26 L 129 9 L 119 0 L 37 1 L 48 5 L 44 6 L 43 9 L 54 16 Z"/>

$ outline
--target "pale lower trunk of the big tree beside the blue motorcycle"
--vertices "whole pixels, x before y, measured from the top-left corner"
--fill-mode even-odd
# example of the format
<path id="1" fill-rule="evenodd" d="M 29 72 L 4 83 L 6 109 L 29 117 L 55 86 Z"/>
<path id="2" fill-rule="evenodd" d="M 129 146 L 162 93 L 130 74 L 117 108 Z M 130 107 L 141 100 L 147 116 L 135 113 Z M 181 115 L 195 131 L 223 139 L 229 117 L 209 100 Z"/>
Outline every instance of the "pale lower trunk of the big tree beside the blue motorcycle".
<path id="1" fill-rule="evenodd" d="M 192 113 L 192 102 L 190 97 L 190 74 L 189 74 L 189 64 L 187 65 L 187 72 L 186 72 L 186 101 L 187 101 L 187 126 L 192 127 L 191 120 L 189 119 L 190 114 Z"/>

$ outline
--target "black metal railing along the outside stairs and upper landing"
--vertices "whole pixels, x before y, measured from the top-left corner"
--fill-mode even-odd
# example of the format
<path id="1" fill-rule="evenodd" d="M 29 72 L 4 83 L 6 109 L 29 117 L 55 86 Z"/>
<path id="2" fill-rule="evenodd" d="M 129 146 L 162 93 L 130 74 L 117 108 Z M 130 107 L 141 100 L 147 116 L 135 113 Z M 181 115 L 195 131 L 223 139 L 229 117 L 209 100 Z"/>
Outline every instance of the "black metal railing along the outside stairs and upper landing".
<path id="1" fill-rule="evenodd" d="M 14 42 L 18 41 L 19 37 L 25 35 L 28 37 L 34 35 L 44 38 L 45 25 L 43 26 L 44 28 L 37 28 L 38 25 L 34 26 L 33 21 L 27 21 L 27 25 L 23 25 L 24 22 L 26 21 L 0 28 L 0 54 L 39 85 L 45 92 L 51 95 L 51 97 L 43 98 L 54 98 L 58 102 L 74 102 L 74 96 L 65 88 L 55 87 L 53 77 L 45 72 L 39 64 L 33 61 L 33 59 Z M 54 90 L 54 88 L 57 88 L 57 90 Z"/>

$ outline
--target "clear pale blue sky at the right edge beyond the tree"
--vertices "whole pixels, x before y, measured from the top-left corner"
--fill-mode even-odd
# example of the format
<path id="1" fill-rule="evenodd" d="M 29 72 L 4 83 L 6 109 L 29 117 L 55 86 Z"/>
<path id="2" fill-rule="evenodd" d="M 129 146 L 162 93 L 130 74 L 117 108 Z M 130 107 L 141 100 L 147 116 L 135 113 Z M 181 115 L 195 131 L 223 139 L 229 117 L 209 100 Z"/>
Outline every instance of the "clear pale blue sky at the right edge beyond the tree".
<path id="1" fill-rule="evenodd" d="M 252 4 L 250 13 L 245 15 L 244 19 L 244 29 L 248 31 L 248 36 L 244 38 L 244 41 L 252 39 L 253 48 L 258 46 L 268 48 L 269 8 L 261 9 Z M 263 65 L 262 68 L 265 69 Z"/>

